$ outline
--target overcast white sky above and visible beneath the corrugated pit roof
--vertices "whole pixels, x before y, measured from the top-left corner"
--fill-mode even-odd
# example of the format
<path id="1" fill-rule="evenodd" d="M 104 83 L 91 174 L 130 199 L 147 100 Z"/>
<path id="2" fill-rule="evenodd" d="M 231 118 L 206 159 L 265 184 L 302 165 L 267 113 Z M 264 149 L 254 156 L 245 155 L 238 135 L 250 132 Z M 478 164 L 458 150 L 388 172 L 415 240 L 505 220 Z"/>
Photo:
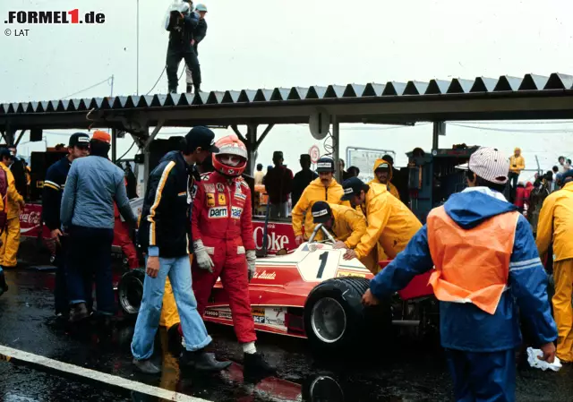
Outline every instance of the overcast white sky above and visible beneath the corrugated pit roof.
<path id="1" fill-rule="evenodd" d="M 135 94 L 136 4 L 136 0 L 1 0 L 0 102 L 59 99 L 112 75 L 114 95 Z M 163 21 L 169 4 L 140 1 L 140 94 L 151 89 L 165 65 L 168 34 Z M 209 30 L 200 46 L 203 90 L 573 74 L 573 24 L 569 22 L 573 2 L 568 0 L 205 0 L 204 4 L 209 8 Z M 80 14 L 105 13 L 106 21 L 101 25 L 4 24 L 8 11 L 75 7 L 80 7 Z M 6 28 L 30 32 L 28 37 L 6 37 Z M 179 90 L 184 90 L 183 81 Z M 166 91 L 164 75 L 152 93 Z M 74 98 L 110 93 L 106 82 Z M 488 130 L 449 125 L 440 145 L 492 145 L 508 154 L 518 145 L 530 162 L 527 167 L 534 167 L 535 155 L 542 167 L 551 167 L 560 154 L 573 156 L 573 122 L 469 125 Z M 431 125 L 391 130 L 357 127 L 360 130 L 342 128 L 341 155 L 348 146 L 395 150 L 398 164 L 403 165 L 407 150 L 431 148 Z M 218 131 L 218 135 L 224 133 Z M 286 135 L 289 141 L 281 141 Z M 49 144 L 64 140 L 47 136 Z M 131 143 L 120 141 L 118 151 L 127 150 Z M 314 143 L 304 125 L 276 127 L 263 142 L 258 161 L 267 165 L 272 150 L 282 149 L 289 166 L 297 170 L 298 155 Z M 43 146 L 22 144 L 20 152 Z"/>

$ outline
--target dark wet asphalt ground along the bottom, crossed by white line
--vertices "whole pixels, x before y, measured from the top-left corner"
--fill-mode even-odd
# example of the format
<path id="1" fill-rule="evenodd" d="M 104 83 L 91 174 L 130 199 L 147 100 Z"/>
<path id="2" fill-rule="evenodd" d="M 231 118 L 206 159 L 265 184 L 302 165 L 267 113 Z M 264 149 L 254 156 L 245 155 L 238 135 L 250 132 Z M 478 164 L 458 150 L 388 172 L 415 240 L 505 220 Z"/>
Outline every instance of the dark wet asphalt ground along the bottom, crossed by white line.
<path id="1" fill-rule="evenodd" d="M 320 356 L 304 339 L 259 334 L 258 349 L 278 368 L 276 377 L 245 381 L 243 355 L 232 329 L 209 325 L 219 359 L 236 364 L 221 374 L 181 372 L 177 345 L 160 329 L 155 359 L 159 377 L 133 371 L 133 321 L 119 318 L 106 329 L 89 321 L 72 326 L 53 314 L 54 272 L 30 268 L 6 272 L 10 290 L 0 297 L 0 345 L 132 381 L 141 381 L 211 401 L 450 401 L 451 381 L 435 338 L 399 334 L 375 345 L 356 345 L 348 355 Z M 520 364 L 518 401 L 573 400 L 573 367 L 541 372 Z M 312 395 L 309 395 L 312 389 Z M 115 389 L 80 377 L 62 376 L 19 362 L 0 361 L 2 401 L 152 401 L 137 392 Z"/>

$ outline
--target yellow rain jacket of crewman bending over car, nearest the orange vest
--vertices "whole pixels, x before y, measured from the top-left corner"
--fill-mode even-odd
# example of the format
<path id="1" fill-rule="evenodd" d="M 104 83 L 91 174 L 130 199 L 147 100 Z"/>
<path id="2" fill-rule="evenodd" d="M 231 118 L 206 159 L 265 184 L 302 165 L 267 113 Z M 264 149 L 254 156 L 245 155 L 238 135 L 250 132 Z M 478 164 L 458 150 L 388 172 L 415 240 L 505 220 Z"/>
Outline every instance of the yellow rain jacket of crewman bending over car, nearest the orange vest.
<path id="1" fill-rule="evenodd" d="M 372 252 L 376 244 L 380 244 L 384 253 L 393 259 L 406 248 L 422 224 L 404 202 L 389 193 L 385 185 L 369 185 L 365 205 L 362 205 L 368 228 L 355 252 L 358 259 L 362 259 Z"/>

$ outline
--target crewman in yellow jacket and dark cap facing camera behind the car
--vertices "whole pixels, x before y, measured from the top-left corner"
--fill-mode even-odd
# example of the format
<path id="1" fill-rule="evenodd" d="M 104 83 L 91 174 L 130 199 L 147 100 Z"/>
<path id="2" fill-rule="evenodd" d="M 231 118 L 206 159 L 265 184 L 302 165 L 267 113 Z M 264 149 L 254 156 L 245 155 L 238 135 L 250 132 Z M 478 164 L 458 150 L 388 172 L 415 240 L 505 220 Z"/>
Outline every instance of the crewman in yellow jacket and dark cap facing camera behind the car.
<path id="1" fill-rule="evenodd" d="M 312 235 L 314 223 L 312 219 L 312 204 L 316 201 L 327 201 L 330 204 L 342 204 L 340 199 L 344 191 L 334 178 L 334 160 L 322 157 L 316 163 L 316 172 L 319 174 L 309 184 L 293 208 L 293 230 L 295 231 L 296 245 L 303 244 Z M 304 233 L 303 233 L 304 220 Z"/>

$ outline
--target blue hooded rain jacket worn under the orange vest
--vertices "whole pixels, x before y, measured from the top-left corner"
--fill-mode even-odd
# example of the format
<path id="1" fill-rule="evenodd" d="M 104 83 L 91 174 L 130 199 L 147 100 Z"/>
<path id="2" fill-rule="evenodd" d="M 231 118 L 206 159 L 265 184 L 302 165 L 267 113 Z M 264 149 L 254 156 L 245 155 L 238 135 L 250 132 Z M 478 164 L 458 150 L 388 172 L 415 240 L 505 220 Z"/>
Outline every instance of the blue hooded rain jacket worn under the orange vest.
<path id="1" fill-rule="evenodd" d="M 499 192 L 486 187 L 467 188 L 453 194 L 444 205 L 449 218 L 459 227 L 478 227 L 483 221 L 517 207 L 503 199 Z M 416 275 L 433 267 L 424 225 L 385 269 L 372 279 L 372 294 L 379 299 L 406 285 Z M 508 290 L 501 295 L 493 315 L 474 304 L 440 302 L 441 345 L 468 352 L 497 352 L 521 344 L 519 312 L 539 345 L 554 341 L 557 329 L 547 297 L 547 274 L 543 269 L 531 227 L 519 216 L 511 262 Z M 519 312 L 517 310 L 519 308 Z"/>

